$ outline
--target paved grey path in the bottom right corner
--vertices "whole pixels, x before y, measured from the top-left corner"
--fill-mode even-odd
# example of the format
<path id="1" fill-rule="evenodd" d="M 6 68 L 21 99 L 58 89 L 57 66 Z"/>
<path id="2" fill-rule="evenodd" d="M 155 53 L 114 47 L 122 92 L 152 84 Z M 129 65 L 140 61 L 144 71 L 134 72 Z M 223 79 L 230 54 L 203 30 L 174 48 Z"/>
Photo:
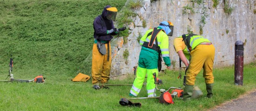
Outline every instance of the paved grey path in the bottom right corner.
<path id="1" fill-rule="evenodd" d="M 256 89 L 209 111 L 256 111 Z"/>

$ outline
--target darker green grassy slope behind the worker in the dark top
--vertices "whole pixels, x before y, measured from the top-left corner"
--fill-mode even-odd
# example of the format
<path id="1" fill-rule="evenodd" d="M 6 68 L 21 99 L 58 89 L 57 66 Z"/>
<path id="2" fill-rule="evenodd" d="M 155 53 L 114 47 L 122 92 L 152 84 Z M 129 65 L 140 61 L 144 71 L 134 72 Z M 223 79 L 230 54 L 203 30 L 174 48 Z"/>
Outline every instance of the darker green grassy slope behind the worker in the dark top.
<path id="1" fill-rule="evenodd" d="M 91 75 L 94 19 L 126 0 L 0 1 L 0 74 L 13 58 L 16 77 Z M 92 6 L 93 4 L 93 6 Z M 19 76 L 20 75 L 20 76 Z M 69 79 L 67 79 L 69 78 Z"/>

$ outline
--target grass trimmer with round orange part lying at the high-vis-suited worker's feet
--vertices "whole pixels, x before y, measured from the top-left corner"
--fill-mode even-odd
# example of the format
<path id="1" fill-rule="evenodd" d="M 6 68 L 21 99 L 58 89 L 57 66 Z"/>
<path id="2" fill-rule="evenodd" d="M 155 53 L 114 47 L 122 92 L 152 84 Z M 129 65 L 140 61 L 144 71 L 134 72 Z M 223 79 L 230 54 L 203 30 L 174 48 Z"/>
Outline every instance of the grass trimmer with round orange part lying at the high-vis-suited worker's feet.
<path id="1" fill-rule="evenodd" d="M 133 103 L 130 100 L 136 100 L 136 99 L 159 99 L 159 102 L 162 104 L 174 104 L 172 97 L 175 97 L 174 95 L 169 93 L 170 89 L 177 89 L 177 90 L 182 90 L 182 88 L 176 88 L 176 87 L 170 87 L 168 90 L 165 89 L 158 89 L 157 88 L 157 81 L 156 81 L 156 73 L 154 75 L 154 80 L 155 80 L 155 89 L 159 90 L 161 92 L 160 96 L 156 97 L 141 97 L 141 98 L 121 98 L 119 101 L 120 105 L 123 106 L 136 106 L 136 107 L 141 107 L 141 103 Z"/>

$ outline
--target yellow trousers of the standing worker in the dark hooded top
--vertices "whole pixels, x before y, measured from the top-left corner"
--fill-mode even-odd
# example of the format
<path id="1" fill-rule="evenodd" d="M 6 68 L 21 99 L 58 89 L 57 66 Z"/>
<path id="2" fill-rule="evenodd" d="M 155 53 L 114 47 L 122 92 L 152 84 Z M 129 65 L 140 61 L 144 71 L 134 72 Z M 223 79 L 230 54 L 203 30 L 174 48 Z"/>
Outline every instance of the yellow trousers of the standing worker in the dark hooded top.
<path id="1" fill-rule="evenodd" d="M 110 75 L 111 68 L 111 46 L 109 43 L 109 61 L 108 61 L 108 44 L 105 44 L 106 55 L 102 55 L 97 49 L 97 43 L 93 46 L 93 56 L 92 56 L 92 83 L 94 85 L 99 85 L 107 83 Z"/>

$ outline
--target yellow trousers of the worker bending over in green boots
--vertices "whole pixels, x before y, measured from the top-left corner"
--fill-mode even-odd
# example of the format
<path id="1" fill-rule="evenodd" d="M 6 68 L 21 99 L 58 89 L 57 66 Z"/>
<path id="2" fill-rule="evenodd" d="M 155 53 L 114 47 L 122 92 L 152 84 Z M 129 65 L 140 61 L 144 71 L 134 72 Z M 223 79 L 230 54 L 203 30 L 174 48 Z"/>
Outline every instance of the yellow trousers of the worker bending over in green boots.
<path id="1" fill-rule="evenodd" d="M 191 60 L 187 71 L 186 84 L 195 85 L 195 77 L 203 68 L 203 77 L 206 84 L 214 83 L 213 62 L 215 47 L 199 44 L 191 51 Z"/>

